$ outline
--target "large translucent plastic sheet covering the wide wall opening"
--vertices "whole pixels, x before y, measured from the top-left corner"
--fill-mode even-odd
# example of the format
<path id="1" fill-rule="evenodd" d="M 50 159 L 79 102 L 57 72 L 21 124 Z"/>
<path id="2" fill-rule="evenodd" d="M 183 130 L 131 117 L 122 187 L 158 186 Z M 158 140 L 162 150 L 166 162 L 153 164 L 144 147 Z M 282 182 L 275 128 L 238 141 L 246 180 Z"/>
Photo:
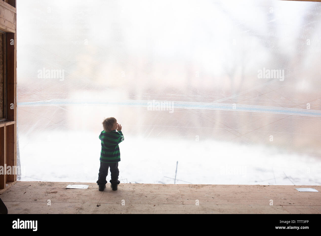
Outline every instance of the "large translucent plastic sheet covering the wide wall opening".
<path id="1" fill-rule="evenodd" d="M 321 3 L 17 0 L 23 181 L 320 185 Z M 110 173 L 108 172 L 107 181 Z"/>

